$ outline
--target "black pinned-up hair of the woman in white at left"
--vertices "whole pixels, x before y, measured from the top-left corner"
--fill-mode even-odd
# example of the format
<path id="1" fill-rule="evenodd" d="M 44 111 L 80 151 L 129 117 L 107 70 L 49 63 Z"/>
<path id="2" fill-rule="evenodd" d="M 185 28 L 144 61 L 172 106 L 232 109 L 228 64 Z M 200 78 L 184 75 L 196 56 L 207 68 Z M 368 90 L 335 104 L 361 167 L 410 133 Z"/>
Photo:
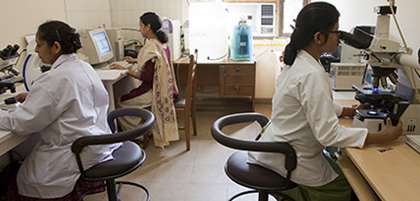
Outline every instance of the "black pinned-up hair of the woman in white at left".
<path id="1" fill-rule="evenodd" d="M 75 53 L 82 47 L 80 35 L 76 29 L 61 21 L 48 21 L 38 27 L 38 37 L 52 46 L 54 42 L 61 45 L 61 54 Z"/>

